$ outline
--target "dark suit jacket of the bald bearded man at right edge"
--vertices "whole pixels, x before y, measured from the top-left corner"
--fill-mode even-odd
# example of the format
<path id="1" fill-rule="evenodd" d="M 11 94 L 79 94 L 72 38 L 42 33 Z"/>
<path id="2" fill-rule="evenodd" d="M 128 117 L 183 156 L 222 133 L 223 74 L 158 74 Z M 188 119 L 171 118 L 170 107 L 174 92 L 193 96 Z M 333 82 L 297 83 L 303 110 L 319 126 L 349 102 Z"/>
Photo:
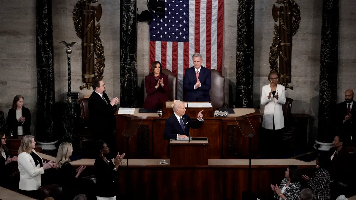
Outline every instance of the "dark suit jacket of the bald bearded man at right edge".
<path id="1" fill-rule="evenodd" d="M 355 106 L 355 107 L 354 107 Z M 336 107 L 336 117 L 337 117 L 337 127 L 339 132 L 344 132 L 349 135 L 354 135 L 356 128 L 356 101 L 352 103 L 351 108 L 351 121 L 347 121 L 346 123 L 342 123 L 345 119 L 345 115 L 347 114 L 347 103 L 346 101 L 337 104 Z"/>

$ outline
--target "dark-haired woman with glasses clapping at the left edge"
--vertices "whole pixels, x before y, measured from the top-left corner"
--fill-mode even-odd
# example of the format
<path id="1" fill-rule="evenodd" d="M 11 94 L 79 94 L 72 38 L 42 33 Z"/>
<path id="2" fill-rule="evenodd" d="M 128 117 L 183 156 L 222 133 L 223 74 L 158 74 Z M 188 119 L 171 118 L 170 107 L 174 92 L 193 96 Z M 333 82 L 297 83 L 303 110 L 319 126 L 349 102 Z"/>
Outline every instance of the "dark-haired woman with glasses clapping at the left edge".
<path id="1" fill-rule="evenodd" d="M 0 133 L 0 172 L 2 173 L 0 186 L 9 185 L 9 176 L 11 173 L 10 163 L 17 161 L 17 156 L 12 157 L 11 151 L 6 147 L 5 133 Z"/>

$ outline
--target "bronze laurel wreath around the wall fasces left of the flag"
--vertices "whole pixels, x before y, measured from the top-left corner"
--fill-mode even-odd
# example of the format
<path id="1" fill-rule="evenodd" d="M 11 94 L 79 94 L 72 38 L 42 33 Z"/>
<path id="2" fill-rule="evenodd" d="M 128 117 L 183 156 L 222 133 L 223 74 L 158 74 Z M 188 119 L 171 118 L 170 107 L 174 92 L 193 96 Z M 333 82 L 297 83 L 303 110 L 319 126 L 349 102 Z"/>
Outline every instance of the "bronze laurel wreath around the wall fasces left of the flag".
<path id="1" fill-rule="evenodd" d="M 78 0 L 77 4 L 74 5 L 73 9 L 73 21 L 74 29 L 77 36 L 82 39 L 82 23 L 80 21 L 80 15 L 82 13 L 81 5 L 91 4 L 98 2 L 98 0 Z M 104 68 L 105 68 L 105 56 L 104 56 L 104 46 L 100 40 L 100 23 L 95 26 L 94 33 L 94 50 L 95 50 L 95 78 L 103 78 Z"/>

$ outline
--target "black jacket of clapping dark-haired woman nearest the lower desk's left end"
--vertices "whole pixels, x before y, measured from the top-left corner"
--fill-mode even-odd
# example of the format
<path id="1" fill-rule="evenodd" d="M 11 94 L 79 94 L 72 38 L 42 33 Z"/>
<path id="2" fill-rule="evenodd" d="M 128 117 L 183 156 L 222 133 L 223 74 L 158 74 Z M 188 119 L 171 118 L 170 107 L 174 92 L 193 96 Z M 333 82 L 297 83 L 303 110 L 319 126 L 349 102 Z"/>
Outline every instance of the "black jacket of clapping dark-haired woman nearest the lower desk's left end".
<path id="1" fill-rule="evenodd" d="M 164 80 L 164 79 L 163 79 Z M 110 160 L 107 164 L 103 158 L 97 157 L 94 163 L 94 172 L 96 178 L 96 188 L 95 195 L 100 197 L 113 197 L 116 196 L 117 191 L 117 171 L 114 170 L 115 165 L 111 162 L 109 155 L 105 156 L 106 159 Z"/>

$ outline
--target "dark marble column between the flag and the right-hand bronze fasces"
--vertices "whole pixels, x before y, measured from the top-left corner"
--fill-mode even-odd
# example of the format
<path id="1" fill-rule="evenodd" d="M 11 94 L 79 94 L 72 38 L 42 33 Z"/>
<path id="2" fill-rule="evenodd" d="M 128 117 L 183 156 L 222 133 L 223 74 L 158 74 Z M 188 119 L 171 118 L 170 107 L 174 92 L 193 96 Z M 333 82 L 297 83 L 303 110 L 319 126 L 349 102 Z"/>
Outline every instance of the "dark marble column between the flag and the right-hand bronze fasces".
<path id="1" fill-rule="evenodd" d="M 252 107 L 254 1 L 238 0 L 236 42 L 236 107 Z"/>

